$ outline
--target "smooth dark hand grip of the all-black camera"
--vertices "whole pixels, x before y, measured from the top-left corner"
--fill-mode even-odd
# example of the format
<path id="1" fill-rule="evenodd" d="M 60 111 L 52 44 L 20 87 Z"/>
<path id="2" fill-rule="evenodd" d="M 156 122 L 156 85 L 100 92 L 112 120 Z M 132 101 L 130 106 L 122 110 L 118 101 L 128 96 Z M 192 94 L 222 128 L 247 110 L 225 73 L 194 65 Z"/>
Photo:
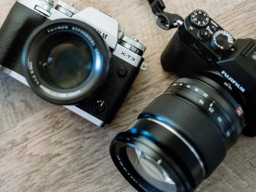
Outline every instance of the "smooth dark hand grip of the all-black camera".
<path id="1" fill-rule="evenodd" d="M 186 76 L 205 69 L 206 63 L 182 42 L 180 36 L 178 29 L 162 52 L 161 63 L 164 70 Z M 186 38 L 185 34 L 183 36 Z"/>

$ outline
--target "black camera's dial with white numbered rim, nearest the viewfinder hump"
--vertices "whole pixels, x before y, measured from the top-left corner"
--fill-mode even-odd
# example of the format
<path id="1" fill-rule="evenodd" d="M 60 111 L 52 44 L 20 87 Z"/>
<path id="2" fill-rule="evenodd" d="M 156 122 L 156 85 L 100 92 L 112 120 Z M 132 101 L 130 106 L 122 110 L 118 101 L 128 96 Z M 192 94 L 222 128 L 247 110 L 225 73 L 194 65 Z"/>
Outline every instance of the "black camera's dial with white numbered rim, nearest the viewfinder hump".
<path id="1" fill-rule="evenodd" d="M 216 52 L 225 52 L 232 48 L 234 44 L 234 38 L 225 30 L 216 31 L 211 40 L 211 46 Z"/>

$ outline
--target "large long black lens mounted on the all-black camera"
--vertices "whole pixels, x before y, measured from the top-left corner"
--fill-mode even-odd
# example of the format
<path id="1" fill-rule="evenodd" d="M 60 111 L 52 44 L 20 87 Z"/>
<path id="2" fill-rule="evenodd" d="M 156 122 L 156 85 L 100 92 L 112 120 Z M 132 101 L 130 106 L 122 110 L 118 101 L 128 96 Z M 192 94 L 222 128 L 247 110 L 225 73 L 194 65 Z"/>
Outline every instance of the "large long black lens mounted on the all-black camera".
<path id="1" fill-rule="evenodd" d="M 110 145 L 138 191 L 194 191 L 240 136 L 245 99 L 219 72 L 176 80 Z"/>

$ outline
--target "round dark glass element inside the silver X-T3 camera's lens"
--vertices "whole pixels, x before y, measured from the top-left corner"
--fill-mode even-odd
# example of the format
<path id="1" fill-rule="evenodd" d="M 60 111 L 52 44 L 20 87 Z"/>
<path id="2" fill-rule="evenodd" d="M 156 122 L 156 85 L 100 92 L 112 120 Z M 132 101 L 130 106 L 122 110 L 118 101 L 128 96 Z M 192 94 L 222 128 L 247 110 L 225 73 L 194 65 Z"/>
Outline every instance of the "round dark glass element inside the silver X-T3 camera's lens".
<path id="1" fill-rule="evenodd" d="M 92 71 L 92 53 L 79 39 L 56 42 L 40 64 L 40 74 L 52 86 L 72 89 L 80 86 Z"/>

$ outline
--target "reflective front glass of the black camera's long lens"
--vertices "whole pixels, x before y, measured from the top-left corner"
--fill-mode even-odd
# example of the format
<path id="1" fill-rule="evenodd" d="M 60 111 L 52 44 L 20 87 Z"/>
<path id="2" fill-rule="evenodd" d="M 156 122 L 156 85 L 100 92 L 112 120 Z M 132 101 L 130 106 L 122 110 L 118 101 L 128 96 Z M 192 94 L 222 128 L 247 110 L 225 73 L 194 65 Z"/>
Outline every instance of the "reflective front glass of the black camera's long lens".
<path id="1" fill-rule="evenodd" d="M 126 151 L 132 166 L 144 180 L 163 192 L 177 191 L 175 182 L 162 168 L 161 159 L 154 160 L 138 148 L 128 147 Z"/>

